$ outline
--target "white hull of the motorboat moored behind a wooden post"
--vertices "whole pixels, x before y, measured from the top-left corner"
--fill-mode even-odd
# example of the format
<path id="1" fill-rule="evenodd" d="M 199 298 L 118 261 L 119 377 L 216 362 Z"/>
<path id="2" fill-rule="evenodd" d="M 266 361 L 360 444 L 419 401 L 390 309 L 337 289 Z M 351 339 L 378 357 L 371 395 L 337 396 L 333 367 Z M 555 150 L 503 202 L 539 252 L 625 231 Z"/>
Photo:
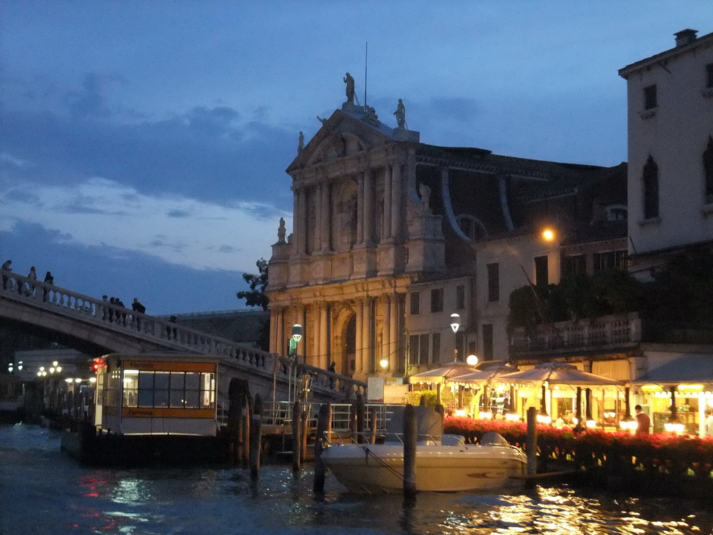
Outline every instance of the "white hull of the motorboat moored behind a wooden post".
<path id="1" fill-rule="evenodd" d="M 344 444 L 322 453 L 324 465 L 354 492 L 399 491 L 404 488 L 401 444 Z M 522 478 L 523 452 L 500 446 L 419 446 L 416 490 L 466 491 L 502 489 Z"/>

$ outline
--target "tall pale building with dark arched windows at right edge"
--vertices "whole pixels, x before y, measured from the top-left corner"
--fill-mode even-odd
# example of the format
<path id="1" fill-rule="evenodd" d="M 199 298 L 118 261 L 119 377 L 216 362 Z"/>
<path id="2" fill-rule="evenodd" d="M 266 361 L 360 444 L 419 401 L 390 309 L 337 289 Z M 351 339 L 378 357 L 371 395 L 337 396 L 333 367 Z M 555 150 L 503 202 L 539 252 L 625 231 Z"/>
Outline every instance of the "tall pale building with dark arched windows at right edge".
<path id="1" fill-rule="evenodd" d="M 713 240 L 713 34 L 632 63 L 627 81 L 629 253 L 638 268 Z"/>

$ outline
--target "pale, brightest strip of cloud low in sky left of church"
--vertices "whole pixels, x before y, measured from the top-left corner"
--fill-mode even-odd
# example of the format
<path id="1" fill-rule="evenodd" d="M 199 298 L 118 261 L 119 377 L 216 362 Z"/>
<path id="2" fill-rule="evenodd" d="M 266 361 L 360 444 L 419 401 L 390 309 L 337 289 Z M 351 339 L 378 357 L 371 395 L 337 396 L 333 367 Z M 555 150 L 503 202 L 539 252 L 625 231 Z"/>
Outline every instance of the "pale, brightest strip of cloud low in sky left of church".
<path id="1" fill-rule="evenodd" d="M 103 244 L 197 270 L 250 270 L 255 260 L 270 256 L 270 240 L 255 236 L 277 240 L 279 218 L 291 219 L 272 205 L 145 195 L 103 178 L 43 188 L 16 183 L 0 193 L 0 203 L 0 230 L 39 225 L 76 245 Z"/>

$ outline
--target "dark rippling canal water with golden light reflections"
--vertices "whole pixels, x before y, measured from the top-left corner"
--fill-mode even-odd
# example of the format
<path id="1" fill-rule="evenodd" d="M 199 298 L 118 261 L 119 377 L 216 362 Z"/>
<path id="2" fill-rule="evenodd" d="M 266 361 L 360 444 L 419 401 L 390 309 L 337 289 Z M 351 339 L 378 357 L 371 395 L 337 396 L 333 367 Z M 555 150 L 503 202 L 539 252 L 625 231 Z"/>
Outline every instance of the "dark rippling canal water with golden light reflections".
<path id="1" fill-rule="evenodd" d="M 713 497 L 636 498 L 568 486 L 511 494 L 348 493 L 331 475 L 312 493 L 309 467 L 82 467 L 59 434 L 0 426 L 0 535 L 15 534 L 710 534 Z"/>

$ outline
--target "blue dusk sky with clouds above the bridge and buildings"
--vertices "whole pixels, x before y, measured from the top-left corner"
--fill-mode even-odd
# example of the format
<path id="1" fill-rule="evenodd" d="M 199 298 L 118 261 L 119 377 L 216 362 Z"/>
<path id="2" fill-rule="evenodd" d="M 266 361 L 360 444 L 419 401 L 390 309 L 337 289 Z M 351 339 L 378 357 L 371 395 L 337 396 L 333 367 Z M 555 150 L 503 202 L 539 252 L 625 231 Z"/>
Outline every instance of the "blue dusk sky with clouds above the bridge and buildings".
<path id="1" fill-rule="evenodd" d="M 0 261 L 160 315 L 243 306 L 347 71 L 424 143 L 617 165 L 617 69 L 713 3 L 4 0 L 0 24 Z"/>

